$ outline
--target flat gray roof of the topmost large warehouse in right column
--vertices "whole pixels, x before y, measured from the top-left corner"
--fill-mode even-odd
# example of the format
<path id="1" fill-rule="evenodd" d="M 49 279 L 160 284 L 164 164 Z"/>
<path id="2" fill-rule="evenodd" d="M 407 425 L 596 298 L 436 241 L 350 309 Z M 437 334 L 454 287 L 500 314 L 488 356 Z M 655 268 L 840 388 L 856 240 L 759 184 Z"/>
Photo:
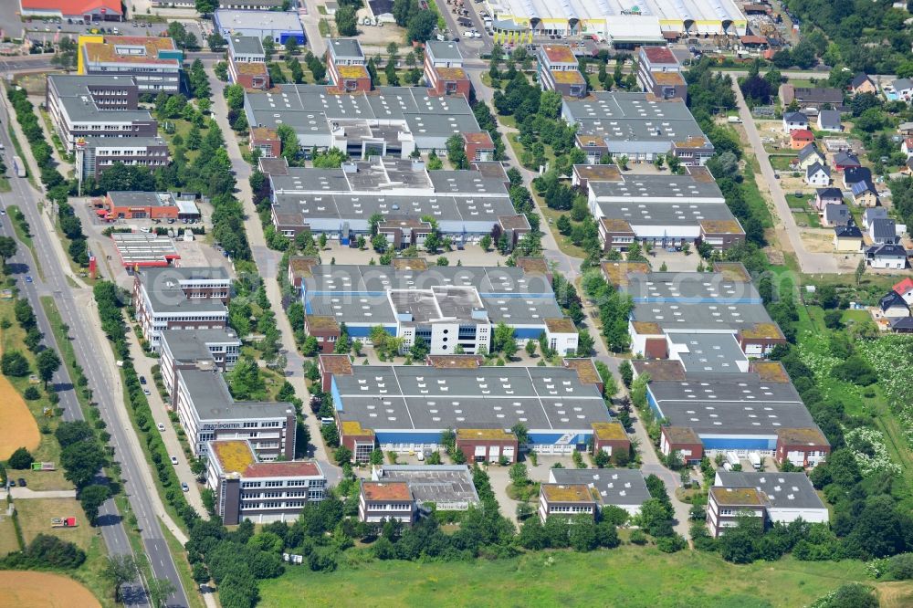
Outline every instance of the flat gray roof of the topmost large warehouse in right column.
<path id="1" fill-rule="evenodd" d="M 579 133 L 615 142 L 684 142 L 704 138 L 683 100 L 659 100 L 647 93 L 595 91 L 564 99 L 565 118 Z M 709 145 L 709 142 L 708 142 Z"/>

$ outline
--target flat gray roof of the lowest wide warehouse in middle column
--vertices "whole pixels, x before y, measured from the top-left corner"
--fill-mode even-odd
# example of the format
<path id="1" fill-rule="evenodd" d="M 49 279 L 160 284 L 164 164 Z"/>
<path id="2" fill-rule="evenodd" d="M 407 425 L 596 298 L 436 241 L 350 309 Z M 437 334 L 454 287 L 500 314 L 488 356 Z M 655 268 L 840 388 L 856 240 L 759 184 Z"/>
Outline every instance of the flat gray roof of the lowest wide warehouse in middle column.
<path id="1" fill-rule="evenodd" d="M 509 429 L 557 434 L 589 431 L 608 422 L 603 397 L 577 372 L 558 367 L 358 365 L 352 375 L 334 375 L 343 421 L 376 433 L 448 428 Z"/>

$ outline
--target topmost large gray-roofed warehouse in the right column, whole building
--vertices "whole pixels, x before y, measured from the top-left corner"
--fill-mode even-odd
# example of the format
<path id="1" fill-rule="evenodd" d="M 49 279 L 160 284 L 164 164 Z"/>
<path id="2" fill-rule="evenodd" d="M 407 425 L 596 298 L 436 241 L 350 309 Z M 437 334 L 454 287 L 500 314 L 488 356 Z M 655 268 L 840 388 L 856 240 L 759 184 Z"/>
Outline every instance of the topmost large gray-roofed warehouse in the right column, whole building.
<path id="1" fill-rule="evenodd" d="M 578 125 L 577 147 L 586 152 L 587 162 L 599 162 L 606 154 L 654 162 L 657 156 L 672 154 L 683 165 L 704 165 L 714 152 L 680 99 L 594 91 L 582 99 L 564 98 L 561 117 Z"/>

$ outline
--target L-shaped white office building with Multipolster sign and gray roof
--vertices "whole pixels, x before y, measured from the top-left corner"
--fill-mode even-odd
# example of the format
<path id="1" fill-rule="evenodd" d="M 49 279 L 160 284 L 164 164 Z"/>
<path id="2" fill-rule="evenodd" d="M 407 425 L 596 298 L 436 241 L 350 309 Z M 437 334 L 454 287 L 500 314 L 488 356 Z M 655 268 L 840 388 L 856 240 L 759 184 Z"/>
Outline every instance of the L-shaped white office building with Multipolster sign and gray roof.
<path id="1" fill-rule="evenodd" d="M 208 456 L 210 442 L 242 439 L 264 461 L 295 457 L 295 407 L 282 402 L 235 401 L 215 369 L 176 372 L 175 410 L 194 456 Z"/>

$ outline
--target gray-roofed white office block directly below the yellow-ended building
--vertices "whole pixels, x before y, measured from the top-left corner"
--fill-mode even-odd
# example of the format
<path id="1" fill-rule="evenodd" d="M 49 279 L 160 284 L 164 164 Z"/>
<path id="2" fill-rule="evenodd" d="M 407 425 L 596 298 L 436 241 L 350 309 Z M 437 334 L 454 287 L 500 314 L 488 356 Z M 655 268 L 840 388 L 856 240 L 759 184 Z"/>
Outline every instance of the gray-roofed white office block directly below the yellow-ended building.
<path id="1" fill-rule="evenodd" d="M 158 122 L 138 109 L 139 96 L 132 76 L 49 74 L 45 107 L 67 152 L 78 152 L 87 138 L 154 138 Z"/>

